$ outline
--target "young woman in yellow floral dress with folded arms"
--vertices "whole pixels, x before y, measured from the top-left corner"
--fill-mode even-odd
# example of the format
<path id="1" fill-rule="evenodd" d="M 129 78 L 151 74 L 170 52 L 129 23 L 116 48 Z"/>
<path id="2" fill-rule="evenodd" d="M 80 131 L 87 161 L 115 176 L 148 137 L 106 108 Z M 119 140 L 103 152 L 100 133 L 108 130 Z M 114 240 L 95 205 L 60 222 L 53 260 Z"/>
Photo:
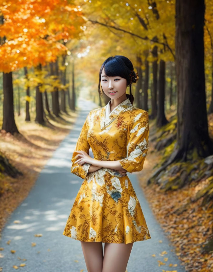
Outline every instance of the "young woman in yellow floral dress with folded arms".
<path id="1" fill-rule="evenodd" d="M 143 169 L 148 151 L 148 113 L 132 105 L 137 80 L 125 56 L 104 61 L 98 91 L 101 82 L 111 100 L 89 112 L 72 156 L 71 172 L 84 181 L 63 234 L 81 241 L 88 272 L 125 272 L 133 243 L 151 238 L 126 175 Z"/>

